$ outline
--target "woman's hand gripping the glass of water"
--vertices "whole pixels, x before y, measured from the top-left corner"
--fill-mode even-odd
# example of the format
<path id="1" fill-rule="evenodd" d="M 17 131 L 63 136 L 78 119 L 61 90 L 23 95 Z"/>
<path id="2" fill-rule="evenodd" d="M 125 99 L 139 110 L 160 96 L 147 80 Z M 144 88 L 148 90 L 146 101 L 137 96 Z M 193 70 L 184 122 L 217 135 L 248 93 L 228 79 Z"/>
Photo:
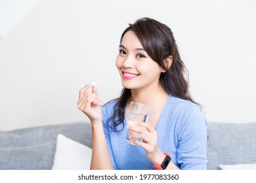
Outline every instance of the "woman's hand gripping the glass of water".
<path id="1" fill-rule="evenodd" d="M 144 148 L 146 158 L 153 164 L 163 156 L 163 152 L 158 148 L 158 133 L 149 123 L 135 122 L 135 125 L 128 125 L 127 129 L 137 132 L 129 139 L 142 139 L 142 141 L 134 140 L 133 143 Z"/>

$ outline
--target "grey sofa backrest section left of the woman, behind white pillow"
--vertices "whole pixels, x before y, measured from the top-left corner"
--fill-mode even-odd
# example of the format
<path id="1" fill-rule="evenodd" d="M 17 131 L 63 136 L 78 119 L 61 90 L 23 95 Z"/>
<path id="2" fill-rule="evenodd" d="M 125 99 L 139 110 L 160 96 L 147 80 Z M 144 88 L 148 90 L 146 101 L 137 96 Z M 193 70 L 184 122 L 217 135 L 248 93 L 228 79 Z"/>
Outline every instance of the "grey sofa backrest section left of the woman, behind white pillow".
<path id="1" fill-rule="evenodd" d="M 91 147 L 89 122 L 0 131 L 0 169 L 51 169 L 58 133 Z"/>

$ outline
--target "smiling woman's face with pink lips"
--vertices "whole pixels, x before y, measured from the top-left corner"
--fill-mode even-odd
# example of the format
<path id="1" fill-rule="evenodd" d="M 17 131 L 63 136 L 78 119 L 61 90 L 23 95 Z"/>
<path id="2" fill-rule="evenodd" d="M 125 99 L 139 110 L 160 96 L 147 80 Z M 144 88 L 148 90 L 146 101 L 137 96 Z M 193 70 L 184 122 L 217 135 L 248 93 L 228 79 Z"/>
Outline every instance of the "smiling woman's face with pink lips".
<path id="1" fill-rule="evenodd" d="M 124 88 L 155 89 L 159 85 L 161 67 L 148 56 L 133 31 L 127 31 L 119 46 L 116 67 Z"/>

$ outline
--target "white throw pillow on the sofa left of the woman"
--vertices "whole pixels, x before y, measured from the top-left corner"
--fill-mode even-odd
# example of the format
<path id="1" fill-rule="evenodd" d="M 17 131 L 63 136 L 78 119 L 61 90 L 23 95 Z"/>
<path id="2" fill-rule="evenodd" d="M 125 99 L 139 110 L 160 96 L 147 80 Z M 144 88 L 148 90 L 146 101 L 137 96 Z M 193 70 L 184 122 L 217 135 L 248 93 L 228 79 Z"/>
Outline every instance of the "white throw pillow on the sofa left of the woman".
<path id="1" fill-rule="evenodd" d="M 53 170 L 89 170 L 91 148 L 58 134 Z"/>

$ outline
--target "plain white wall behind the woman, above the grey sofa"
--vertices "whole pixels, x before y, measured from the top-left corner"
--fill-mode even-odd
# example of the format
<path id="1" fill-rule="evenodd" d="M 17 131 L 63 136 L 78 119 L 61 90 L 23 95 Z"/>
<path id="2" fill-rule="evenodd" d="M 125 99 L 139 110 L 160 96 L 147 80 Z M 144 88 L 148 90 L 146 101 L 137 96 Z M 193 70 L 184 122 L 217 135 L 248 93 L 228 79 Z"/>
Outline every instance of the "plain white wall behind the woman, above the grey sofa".
<path id="1" fill-rule="evenodd" d="M 256 121 L 255 2 L 39 1 L 0 41 L 0 129 L 86 120 L 78 91 L 93 81 L 102 104 L 117 97 L 119 38 L 144 16 L 173 30 L 209 121 Z"/>

